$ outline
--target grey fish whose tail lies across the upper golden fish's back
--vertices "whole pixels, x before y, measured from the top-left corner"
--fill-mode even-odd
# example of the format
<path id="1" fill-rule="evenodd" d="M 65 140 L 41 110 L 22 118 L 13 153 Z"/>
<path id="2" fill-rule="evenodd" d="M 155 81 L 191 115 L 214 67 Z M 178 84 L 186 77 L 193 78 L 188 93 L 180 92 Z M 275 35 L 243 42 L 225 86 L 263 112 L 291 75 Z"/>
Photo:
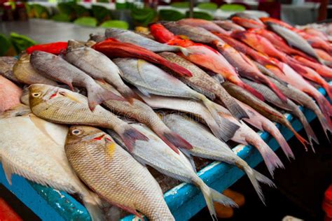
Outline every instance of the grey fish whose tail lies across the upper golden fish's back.
<path id="1" fill-rule="evenodd" d="M 66 62 L 62 57 L 48 52 L 34 51 L 30 57 L 34 69 L 43 76 L 60 81 L 74 90 L 73 85 L 84 87 L 88 91 L 88 104 L 90 110 L 94 110 L 103 101 L 115 99 L 123 100 L 123 97 L 116 96 L 100 87 L 86 73 Z"/>

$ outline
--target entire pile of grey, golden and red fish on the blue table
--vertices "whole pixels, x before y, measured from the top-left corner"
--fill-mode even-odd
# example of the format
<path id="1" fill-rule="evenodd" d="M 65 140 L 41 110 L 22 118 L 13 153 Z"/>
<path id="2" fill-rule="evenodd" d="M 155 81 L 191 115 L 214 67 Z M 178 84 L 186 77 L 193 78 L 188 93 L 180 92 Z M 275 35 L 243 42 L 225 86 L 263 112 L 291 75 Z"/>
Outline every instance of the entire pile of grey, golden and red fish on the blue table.
<path id="1" fill-rule="evenodd" d="M 237 166 L 265 204 L 270 178 L 238 157 L 228 141 L 253 145 L 270 175 L 283 169 L 255 129 L 295 159 L 275 123 L 307 150 L 319 143 L 300 107 L 312 110 L 328 138 L 332 44 L 321 31 L 236 13 L 223 21 L 183 19 L 150 25 L 151 36 L 106 29 L 0 57 L 0 159 L 41 185 L 78 194 L 92 220 L 116 206 L 150 220 L 174 220 L 151 175 L 198 187 L 212 219 L 214 201 L 237 206 L 197 175 L 193 157 Z M 41 50 L 42 49 L 42 50 Z M 307 137 L 293 129 L 291 113 Z"/>

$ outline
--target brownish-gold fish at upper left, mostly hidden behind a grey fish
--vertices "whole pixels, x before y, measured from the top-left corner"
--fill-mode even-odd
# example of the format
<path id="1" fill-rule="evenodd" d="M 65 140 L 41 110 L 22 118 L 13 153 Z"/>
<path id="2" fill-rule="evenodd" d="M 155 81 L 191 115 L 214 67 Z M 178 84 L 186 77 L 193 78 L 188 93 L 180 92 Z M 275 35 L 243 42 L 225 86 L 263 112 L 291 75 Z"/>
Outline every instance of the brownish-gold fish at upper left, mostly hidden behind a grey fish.
<path id="1" fill-rule="evenodd" d="M 18 62 L 13 66 L 13 74 L 21 83 L 26 85 L 32 84 L 45 84 L 45 85 L 57 85 L 54 80 L 46 78 L 39 74 L 34 67 L 30 64 L 30 55 L 23 54 L 18 59 Z"/>

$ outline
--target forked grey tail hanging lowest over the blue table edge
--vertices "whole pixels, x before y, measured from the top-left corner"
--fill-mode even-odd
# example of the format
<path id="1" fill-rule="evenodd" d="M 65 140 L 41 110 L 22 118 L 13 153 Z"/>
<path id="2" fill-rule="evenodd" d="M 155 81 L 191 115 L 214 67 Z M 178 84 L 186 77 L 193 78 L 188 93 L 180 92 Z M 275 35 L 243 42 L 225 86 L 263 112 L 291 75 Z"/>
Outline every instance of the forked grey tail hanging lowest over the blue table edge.
<path id="1" fill-rule="evenodd" d="M 209 209 L 210 215 L 212 216 L 212 220 L 218 220 L 216 218 L 216 211 L 214 210 L 214 201 L 225 206 L 238 207 L 232 199 L 208 187 L 203 182 L 203 180 L 198 182 L 198 187 L 200 187 L 200 190 L 202 191 L 203 197 L 207 203 L 207 208 Z"/>

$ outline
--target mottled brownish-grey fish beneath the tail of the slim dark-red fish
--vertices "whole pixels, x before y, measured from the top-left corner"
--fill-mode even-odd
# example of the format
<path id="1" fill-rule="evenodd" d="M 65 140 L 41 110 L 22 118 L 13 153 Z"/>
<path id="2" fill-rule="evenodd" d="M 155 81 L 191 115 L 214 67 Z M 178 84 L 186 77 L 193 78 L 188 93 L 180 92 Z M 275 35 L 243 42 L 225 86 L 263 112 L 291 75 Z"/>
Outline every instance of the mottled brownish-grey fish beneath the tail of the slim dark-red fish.
<path id="1" fill-rule="evenodd" d="M 194 88 L 196 91 L 205 94 L 212 100 L 216 98 L 220 99 L 222 104 L 230 110 L 230 113 L 232 113 L 235 118 L 240 120 L 248 117 L 247 114 L 244 113 L 244 110 L 237 105 L 233 97 L 231 97 L 228 92 L 221 87 L 220 83 L 214 80 L 214 78 L 209 76 L 198 66 L 195 66 L 195 64 L 172 52 L 162 52 L 159 55 L 165 57 L 165 59 L 168 59 L 171 62 L 179 64 L 180 66 L 184 66 L 186 69 L 191 71 L 191 73 L 193 73 L 193 77 L 191 78 L 180 78 L 180 80 L 184 83 Z"/>

